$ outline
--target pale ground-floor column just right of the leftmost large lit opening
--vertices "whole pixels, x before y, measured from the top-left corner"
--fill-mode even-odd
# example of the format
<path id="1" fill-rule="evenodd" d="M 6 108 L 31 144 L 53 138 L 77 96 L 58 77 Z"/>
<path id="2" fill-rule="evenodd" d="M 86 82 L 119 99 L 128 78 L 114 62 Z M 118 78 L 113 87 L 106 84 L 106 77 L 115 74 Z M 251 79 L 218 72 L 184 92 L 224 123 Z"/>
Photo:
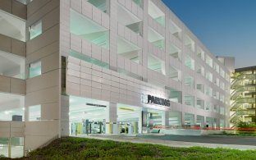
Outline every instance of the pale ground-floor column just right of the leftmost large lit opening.
<path id="1" fill-rule="evenodd" d="M 106 134 L 117 133 L 117 103 L 109 103 L 106 108 Z"/>

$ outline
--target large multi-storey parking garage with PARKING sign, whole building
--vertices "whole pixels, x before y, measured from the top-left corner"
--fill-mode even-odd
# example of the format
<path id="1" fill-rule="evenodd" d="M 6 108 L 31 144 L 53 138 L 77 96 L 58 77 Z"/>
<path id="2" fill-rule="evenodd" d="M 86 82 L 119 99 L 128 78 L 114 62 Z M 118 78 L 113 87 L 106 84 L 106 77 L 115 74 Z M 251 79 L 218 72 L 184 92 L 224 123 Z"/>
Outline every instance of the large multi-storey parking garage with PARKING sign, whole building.
<path id="1" fill-rule="evenodd" d="M 229 127 L 230 74 L 159 0 L 1 0 L 0 154 L 68 135 Z"/>

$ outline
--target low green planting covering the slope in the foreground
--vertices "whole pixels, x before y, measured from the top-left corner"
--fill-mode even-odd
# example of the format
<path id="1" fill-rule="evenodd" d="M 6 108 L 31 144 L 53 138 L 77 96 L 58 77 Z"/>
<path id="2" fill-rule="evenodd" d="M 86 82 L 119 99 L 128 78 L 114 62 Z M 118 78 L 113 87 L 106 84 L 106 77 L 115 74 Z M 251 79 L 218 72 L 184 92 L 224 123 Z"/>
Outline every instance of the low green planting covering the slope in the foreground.
<path id="1" fill-rule="evenodd" d="M 171 148 L 111 140 L 67 137 L 56 139 L 24 159 L 255 159 L 256 150 Z"/>

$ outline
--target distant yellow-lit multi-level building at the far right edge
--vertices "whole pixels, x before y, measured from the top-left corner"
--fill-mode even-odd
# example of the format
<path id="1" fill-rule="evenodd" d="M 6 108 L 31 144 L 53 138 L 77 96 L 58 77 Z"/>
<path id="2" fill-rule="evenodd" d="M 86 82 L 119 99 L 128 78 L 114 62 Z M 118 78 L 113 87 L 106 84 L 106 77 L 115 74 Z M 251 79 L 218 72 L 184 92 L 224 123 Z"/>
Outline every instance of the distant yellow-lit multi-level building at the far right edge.
<path id="1" fill-rule="evenodd" d="M 256 122 L 256 66 L 237 68 L 231 75 L 231 127 Z"/>

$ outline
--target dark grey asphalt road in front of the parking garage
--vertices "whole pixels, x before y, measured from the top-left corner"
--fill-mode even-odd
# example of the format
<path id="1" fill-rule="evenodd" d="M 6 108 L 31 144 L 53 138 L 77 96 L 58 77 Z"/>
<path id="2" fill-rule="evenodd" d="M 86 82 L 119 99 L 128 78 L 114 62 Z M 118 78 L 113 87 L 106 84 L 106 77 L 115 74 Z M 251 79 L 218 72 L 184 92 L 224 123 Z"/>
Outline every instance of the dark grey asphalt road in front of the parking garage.
<path id="1" fill-rule="evenodd" d="M 161 139 L 207 144 L 237 144 L 256 146 L 256 137 L 231 135 L 138 135 L 138 137 L 142 139 Z"/>

